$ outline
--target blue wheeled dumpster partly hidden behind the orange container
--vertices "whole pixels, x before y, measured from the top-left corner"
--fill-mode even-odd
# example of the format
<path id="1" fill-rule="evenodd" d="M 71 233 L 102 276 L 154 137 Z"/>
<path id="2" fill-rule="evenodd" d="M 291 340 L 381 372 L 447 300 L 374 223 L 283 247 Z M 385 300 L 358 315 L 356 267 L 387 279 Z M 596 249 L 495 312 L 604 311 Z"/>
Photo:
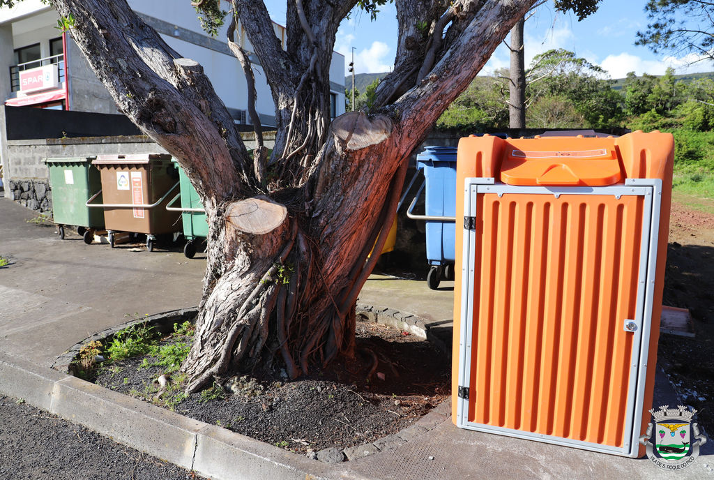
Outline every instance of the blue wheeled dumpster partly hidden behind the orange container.
<path id="1" fill-rule="evenodd" d="M 425 179 L 426 212 L 412 218 L 426 220 L 426 259 L 431 265 L 426 281 L 431 289 L 438 288 L 442 276 L 453 278 L 456 150 L 452 146 L 427 146 L 416 156 L 417 169 L 423 171 Z"/>

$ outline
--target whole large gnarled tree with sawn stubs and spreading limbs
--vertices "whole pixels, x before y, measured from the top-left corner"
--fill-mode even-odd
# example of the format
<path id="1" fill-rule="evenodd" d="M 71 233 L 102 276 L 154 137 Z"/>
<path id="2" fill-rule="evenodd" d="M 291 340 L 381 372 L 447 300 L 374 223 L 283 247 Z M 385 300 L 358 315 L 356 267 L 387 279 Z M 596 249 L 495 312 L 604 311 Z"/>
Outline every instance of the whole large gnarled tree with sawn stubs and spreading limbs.
<path id="1" fill-rule="evenodd" d="M 331 126 L 329 59 L 358 1 L 288 1 L 284 51 L 263 2 L 233 0 L 276 105 L 267 164 L 248 156 L 201 66 L 126 1 L 53 3 L 76 19 L 71 33 L 119 108 L 177 159 L 206 208 L 203 297 L 182 367 L 196 391 L 273 358 L 295 377 L 353 353 L 354 305 L 378 257 L 368 253 L 386 241 L 411 151 L 533 0 L 396 0 L 396 66 L 376 111 Z"/>

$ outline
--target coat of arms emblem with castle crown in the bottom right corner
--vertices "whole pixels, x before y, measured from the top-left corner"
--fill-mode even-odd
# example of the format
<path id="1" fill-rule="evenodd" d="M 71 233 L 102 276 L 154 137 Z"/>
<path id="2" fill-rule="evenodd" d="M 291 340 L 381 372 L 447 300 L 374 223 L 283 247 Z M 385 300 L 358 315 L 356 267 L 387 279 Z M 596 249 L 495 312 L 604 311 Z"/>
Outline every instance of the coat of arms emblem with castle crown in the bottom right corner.
<path id="1" fill-rule="evenodd" d="M 696 410 L 669 405 L 650 410 L 654 423 L 640 436 L 640 444 L 647 446 L 648 458 L 660 468 L 680 470 L 689 466 L 699 455 L 699 447 L 706 443 L 698 425 L 692 423 Z M 654 443 L 653 443 L 654 441 Z"/>

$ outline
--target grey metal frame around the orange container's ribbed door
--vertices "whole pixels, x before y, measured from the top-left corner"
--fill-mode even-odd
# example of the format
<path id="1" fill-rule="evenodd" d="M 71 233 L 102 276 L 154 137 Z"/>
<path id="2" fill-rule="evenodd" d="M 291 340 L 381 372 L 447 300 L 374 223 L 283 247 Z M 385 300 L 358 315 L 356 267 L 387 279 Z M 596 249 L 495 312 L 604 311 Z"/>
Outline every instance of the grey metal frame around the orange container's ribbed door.
<path id="1" fill-rule="evenodd" d="M 648 369 L 653 296 L 655 286 L 655 267 L 657 262 L 660 208 L 662 203 L 661 179 L 627 179 L 625 185 L 616 186 L 509 186 L 496 183 L 493 178 L 467 178 L 464 186 L 464 231 L 461 262 L 461 332 L 459 336 L 458 385 L 470 387 L 471 346 L 473 333 L 473 276 L 476 256 L 476 230 L 471 228 L 476 216 L 478 194 L 545 194 L 557 199 L 563 194 L 575 195 L 613 195 L 619 199 L 624 195 L 643 196 L 642 239 L 640 244 L 640 269 L 638 274 L 637 308 L 635 322 L 637 330 L 633 332 L 633 352 L 631 357 L 630 377 L 628 381 L 628 400 L 623 430 L 623 446 L 608 446 L 588 441 L 566 439 L 560 436 L 538 434 L 531 431 L 506 429 L 498 426 L 477 424 L 468 421 L 468 400 L 458 396 L 456 408 L 456 426 L 463 429 L 485 431 L 488 433 L 513 436 L 521 439 L 543 441 L 550 444 L 570 446 L 590 451 L 599 451 L 622 456 L 638 456 L 640 424 L 645 396 L 645 379 Z M 644 287 L 644 288 L 643 288 Z M 654 368 L 654 365 L 651 366 Z"/>

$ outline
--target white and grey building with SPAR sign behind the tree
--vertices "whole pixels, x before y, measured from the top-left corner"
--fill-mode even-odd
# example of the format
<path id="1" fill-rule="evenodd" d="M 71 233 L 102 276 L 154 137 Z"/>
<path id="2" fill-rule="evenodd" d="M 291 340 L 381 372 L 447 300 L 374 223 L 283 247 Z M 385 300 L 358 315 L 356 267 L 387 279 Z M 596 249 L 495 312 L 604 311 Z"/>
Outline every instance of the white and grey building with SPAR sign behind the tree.
<path id="1" fill-rule="evenodd" d="M 238 124 L 250 123 L 243 69 L 226 45 L 225 31 L 208 36 L 188 1 L 129 0 L 129 5 L 161 34 L 171 48 L 198 61 L 218 96 Z M 119 113 L 104 85 L 96 79 L 69 34 L 56 29 L 58 14 L 40 0 L 24 0 L 12 9 L 0 9 L 0 100 L 9 106 Z M 273 23 L 285 45 L 285 28 Z M 237 35 L 248 51 L 250 45 Z M 251 56 L 251 58 L 255 58 Z M 273 97 L 259 64 L 256 110 L 265 126 L 275 125 Z M 333 53 L 330 69 L 333 117 L 344 113 L 344 58 Z"/>

